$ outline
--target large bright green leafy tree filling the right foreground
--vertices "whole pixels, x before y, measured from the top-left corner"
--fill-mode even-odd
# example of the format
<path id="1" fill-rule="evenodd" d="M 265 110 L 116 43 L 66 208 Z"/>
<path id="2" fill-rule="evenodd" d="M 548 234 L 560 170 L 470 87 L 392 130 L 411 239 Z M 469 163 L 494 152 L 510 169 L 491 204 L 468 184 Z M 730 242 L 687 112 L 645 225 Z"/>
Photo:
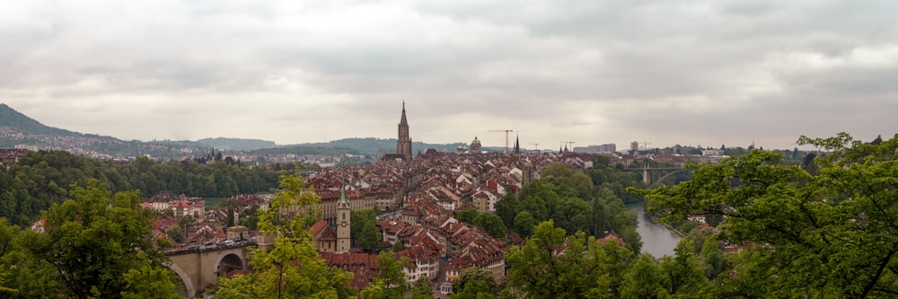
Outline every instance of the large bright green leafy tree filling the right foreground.
<path id="1" fill-rule="evenodd" d="M 830 152 L 814 175 L 753 151 L 697 166 L 673 188 L 637 190 L 670 210 L 668 220 L 699 212 L 726 216 L 718 238 L 744 246 L 735 279 L 718 295 L 880 297 L 898 294 L 898 135 L 879 145 L 840 133 L 801 136 L 799 145 Z"/>

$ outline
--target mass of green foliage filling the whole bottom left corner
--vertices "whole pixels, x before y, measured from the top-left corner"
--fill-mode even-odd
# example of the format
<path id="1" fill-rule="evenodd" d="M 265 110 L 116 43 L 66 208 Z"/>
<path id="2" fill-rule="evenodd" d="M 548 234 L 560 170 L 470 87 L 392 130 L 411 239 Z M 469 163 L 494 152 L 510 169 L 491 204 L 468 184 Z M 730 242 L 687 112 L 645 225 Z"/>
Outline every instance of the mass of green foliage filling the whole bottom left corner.
<path id="1" fill-rule="evenodd" d="M 174 272 L 149 239 L 154 212 L 135 191 L 98 181 L 43 213 L 45 233 L 0 218 L 0 294 L 22 298 L 176 298 Z"/>

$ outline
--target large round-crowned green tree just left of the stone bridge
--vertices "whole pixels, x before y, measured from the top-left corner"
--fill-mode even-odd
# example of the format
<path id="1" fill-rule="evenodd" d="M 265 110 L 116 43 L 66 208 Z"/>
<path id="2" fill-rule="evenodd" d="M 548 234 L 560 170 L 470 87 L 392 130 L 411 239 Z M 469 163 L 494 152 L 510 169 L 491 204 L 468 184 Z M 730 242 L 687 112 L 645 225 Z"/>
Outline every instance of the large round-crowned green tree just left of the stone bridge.
<path id="1" fill-rule="evenodd" d="M 68 296 L 177 297 L 174 272 L 147 237 L 154 215 L 139 206 L 138 192 L 113 197 L 91 180 L 86 188 L 73 186 L 72 195 L 43 214 L 46 233 L 22 232 L 23 246 L 56 269 Z M 154 281 L 154 288 L 134 281 Z"/>

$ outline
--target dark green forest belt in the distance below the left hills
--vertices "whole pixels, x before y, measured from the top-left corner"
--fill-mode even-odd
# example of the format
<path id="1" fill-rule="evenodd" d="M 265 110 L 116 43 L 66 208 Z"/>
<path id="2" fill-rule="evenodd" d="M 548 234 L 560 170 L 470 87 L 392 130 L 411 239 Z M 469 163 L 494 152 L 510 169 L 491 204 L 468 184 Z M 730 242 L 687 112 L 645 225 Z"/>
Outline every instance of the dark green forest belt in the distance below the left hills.
<path id="1" fill-rule="evenodd" d="M 277 165 L 295 171 L 295 164 Z M 145 197 L 160 190 L 191 197 L 217 198 L 268 192 L 277 188 L 280 171 L 268 167 L 194 161 L 155 163 L 139 157 L 126 164 L 89 159 L 62 151 L 25 155 L 9 169 L 0 167 L 0 217 L 17 225 L 31 224 L 41 210 L 66 199 L 71 184 L 99 180 L 113 192 L 139 190 Z"/>

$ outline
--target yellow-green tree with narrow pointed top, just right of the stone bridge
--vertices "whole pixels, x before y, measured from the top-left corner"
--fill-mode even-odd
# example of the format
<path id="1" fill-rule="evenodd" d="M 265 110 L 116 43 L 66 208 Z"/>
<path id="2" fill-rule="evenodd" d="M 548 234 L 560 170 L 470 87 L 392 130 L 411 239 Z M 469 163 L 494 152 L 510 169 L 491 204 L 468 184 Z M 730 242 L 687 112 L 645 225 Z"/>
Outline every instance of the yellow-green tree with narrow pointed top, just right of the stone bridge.
<path id="1" fill-rule="evenodd" d="M 318 256 L 308 228 L 309 216 L 289 215 L 288 207 L 311 207 L 320 198 L 304 192 L 304 181 L 285 176 L 271 207 L 260 212 L 263 233 L 275 236 L 270 251 L 251 249 L 253 272 L 218 280 L 216 298 L 337 298 L 349 295 L 345 287 L 352 274 L 328 267 Z M 299 210 L 309 210 L 300 208 Z"/>

